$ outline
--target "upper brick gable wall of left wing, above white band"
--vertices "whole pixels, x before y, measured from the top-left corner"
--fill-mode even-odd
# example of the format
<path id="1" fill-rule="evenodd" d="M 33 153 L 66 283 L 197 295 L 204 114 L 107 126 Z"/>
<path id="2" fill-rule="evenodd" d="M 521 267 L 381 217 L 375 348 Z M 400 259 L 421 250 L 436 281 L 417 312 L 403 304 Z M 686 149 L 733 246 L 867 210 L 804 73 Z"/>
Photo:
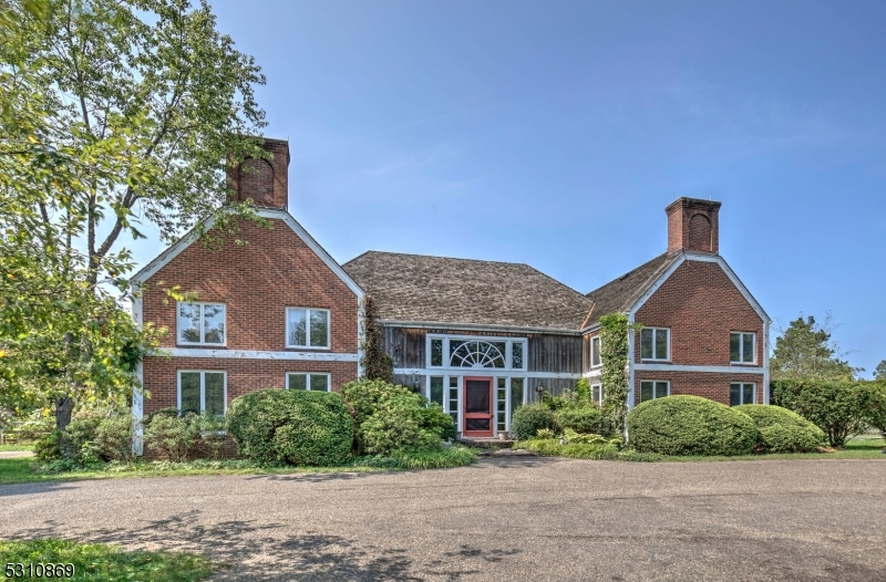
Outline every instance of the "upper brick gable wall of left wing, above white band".
<path id="1" fill-rule="evenodd" d="M 286 351 L 286 308 L 299 306 L 330 310 L 331 351 L 357 352 L 357 295 L 282 220 L 270 222 L 272 229 L 241 221 L 217 251 L 194 242 L 148 279 L 143 318 L 168 329 L 164 347 L 176 347 L 176 302 L 162 288 L 179 285 L 226 304 L 228 350 Z"/>

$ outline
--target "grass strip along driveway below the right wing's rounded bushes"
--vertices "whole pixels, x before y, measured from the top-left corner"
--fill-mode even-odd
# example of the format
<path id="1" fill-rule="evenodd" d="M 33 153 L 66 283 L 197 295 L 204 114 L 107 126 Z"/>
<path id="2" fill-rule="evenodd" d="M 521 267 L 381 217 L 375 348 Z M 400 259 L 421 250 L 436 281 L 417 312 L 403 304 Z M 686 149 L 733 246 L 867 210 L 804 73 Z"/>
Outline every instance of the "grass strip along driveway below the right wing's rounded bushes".
<path id="1" fill-rule="evenodd" d="M 566 444 L 560 445 L 558 440 L 552 438 L 533 438 L 521 440 L 514 444 L 514 448 L 532 450 L 539 455 L 569 457 L 574 459 L 597 459 L 597 460 L 639 460 L 639 461 L 663 461 L 663 463 L 698 463 L 715 460 L 776 460 L 776 459 L 883 459 L 886 455 L 883 449 L 886 440 L 869 435 L 856 437 L 846 443 L 842 449 L 834 453 L 783 453 L 772 455 L 742 455 L 736 457 L 667 457 L 650 453 L 636 453 L 631 450 L 617 450 L 615 447 L 600 445 Z"/>

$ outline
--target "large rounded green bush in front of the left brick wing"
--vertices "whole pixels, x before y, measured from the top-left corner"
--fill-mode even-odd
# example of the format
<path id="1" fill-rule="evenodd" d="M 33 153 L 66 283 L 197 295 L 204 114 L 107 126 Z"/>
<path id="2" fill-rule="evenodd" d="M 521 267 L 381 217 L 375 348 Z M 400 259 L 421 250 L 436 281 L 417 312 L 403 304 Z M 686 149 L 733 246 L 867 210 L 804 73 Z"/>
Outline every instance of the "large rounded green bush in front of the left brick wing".
<path id="1" fill-rule="evenodd" d="M 353 443 L 353 420 L 334 392 L 250 392 L 228 406 L 227 429 L 237 450 L 264 465 L 342 465 Z"/>

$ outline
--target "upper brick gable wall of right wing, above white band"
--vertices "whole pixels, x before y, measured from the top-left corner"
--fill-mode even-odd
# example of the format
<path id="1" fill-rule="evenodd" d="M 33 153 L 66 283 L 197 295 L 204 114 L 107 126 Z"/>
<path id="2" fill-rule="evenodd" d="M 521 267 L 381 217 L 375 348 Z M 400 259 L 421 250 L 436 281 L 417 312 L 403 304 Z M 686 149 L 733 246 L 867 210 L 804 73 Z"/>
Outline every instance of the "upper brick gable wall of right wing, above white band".
<path id="1" fill-rule="evenodd" d="M 730 332 L 756 333 L 763 362 L 763 320 L 714 262 L 686 261 L 637 311 L 637 323 L 670 328 L 671 363 L 730 365 Z M 640 334 L 635 362 L 640 362 Z"/>

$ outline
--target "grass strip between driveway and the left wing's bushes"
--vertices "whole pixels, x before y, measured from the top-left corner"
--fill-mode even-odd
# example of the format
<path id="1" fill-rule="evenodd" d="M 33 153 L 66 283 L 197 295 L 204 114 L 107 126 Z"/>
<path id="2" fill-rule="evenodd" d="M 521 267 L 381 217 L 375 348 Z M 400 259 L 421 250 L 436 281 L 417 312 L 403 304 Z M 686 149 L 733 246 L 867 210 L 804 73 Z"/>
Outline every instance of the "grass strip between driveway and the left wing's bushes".
<path id="1" fill-rule="evenodd" d="M 32 458 L 0 459 L 0 485 L 119 477 L 178 477 L 195 475 L 290 475 L 323 472 L 372 472 L 384 470 L 440 469 L 476 461 L 474 451 L 455 446 L 434 453 L 404 453 L 393 457 L 357 457 L 340 467 L 260 467 L 247 460 L 204 460 L 190 463 L 107 464 L 94 469 L 65 472 L 34 470 Z"/>

